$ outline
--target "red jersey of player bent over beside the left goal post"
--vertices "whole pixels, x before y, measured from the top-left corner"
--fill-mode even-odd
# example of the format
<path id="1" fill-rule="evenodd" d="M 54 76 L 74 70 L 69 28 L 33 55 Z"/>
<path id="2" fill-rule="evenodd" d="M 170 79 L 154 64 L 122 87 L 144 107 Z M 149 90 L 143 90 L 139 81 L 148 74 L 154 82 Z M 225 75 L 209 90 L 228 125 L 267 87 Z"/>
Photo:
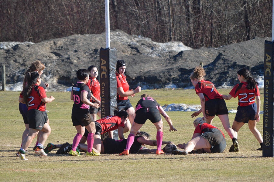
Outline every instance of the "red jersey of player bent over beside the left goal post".
<path id="1" fill-rule="evenodd" d="M 122 122 L 122 119 L 119 116 L 106 116 L 98 119 L 95 122 L 98 122 L 101 125 L 101 134 L 104 134 L 108 131 L 116 130 L 118 129 L 118 127 L 125 127 L 124 122 Z"/>

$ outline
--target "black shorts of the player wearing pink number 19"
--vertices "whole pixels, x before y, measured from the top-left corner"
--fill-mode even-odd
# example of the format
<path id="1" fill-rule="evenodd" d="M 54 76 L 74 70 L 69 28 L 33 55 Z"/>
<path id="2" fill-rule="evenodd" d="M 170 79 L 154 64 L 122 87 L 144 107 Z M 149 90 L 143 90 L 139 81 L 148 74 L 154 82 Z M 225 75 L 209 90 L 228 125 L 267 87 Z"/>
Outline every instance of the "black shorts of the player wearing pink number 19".
<path id="1" fill-rule="evenodd" d="M 74 109 L 72 108 L 71 120 L 73 126 L 87 126 L 93 121 L 88 109 Z"/>

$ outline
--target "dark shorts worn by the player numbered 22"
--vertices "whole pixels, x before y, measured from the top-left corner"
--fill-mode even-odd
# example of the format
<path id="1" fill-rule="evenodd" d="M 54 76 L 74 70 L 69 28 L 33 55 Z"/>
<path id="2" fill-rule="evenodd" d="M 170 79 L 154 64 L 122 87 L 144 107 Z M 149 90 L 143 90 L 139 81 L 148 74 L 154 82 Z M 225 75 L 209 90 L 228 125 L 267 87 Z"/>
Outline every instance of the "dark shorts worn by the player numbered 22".
<path id="1" fill-rule="evenodd" d="M 255 120 L 255 114 L 257 112 L 257 104 L 253 103 L 248 106 L 238 106 L 237 113 L 235 115 L 235 121 L 241 123 L 248 123 L 249 120 Z"/>

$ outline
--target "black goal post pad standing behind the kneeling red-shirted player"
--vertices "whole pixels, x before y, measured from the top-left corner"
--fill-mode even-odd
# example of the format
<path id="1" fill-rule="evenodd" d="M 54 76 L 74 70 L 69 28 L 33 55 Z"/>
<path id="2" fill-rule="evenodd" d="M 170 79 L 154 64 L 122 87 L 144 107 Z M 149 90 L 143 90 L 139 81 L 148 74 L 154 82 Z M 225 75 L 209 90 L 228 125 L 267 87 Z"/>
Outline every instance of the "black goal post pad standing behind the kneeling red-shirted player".
<path id="1" fill-rule="evenodd" d="M 116 49 L 100 49 L 101 117 L 114 115 L 117 108 Z M 102 140 L 108 134 L 101 136 Z"/>

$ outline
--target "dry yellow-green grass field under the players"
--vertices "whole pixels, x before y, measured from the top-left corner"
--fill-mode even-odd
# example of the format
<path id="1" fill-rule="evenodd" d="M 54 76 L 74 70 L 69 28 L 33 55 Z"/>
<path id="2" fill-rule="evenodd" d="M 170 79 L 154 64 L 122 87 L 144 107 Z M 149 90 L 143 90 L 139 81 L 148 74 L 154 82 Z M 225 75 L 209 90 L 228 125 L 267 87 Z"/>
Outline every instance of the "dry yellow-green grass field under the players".
<path id="1" fill-rule="evenodd" d="M 218 89 L 222 94 L 228 94 L 230 89 Z M 159 104 L 184 103 L 200 104 L 194 90 L 146 90 Z M 263 90 L 260 90 L 263 95 Z M 52 132 L 47 143 L 72 143 L 76 134 L 71 122 L 72 101 L 69 92 L 47 92 L 55 100 L 47 104 L 48 116 Z M 130 98 L 135 106 L 140 94 Z M 101 156 L 81 157 L 49 153 L 48 157 L 38 157 L 32 148 L 29 148 L 27 158 L 22 161 L 16 157 L 20 148 L 22 132 L 25 129 L 22 116 L 18 109 L 19 92 L 0 91 L 0 181 L 274 181 L 274 158 L 262 157 L 262 151 L 257 151 L 259 143 L 244 125 L 238 133 L 240 144 L 239 153 L 229 152 L 232 141 L 224 131 L 218 117 L 213 124 L 225 134 L 227 148 L 221 154 L 189 154 L 155 155 L 155 154 L 103 154 Z M 263 97 L 261 96 L 263 103 Z M 228 110 L 237 109 L 238 99 L 227 101 Z M 262 111 L 263 105 L 261 105 Z M 169 126 L 164 121 L 164 141 L 173 141 L 175 144 L 187 142 L 191 139 L 194 127 L 192 112 L 168 112 L 177 132 L 169 132 Z M 201 114 L 200 114 L 201 115 Z M 235 114 L 230 113 L 232 125 Z M 263 123 L 257 128 L 262 134 Z M 147 131 L 156 140 L 156 128 L 149 121 L 141 131 Z M 125 134 L 127 137 L 128 133 Z M 149 147 L 156 148 L 156 147 Z"/>

